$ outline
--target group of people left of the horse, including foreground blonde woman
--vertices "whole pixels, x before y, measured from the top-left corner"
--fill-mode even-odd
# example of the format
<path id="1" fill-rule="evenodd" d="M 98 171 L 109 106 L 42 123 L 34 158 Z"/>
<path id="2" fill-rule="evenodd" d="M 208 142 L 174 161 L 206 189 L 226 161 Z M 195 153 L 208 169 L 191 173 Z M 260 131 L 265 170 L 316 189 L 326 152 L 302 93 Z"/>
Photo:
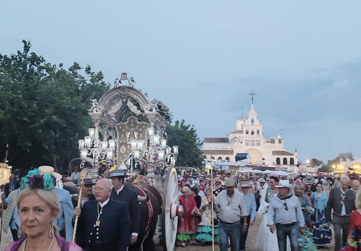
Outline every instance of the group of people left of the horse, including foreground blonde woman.
<path id="1" fill-rule="evenodd" d="M 97 182 L 84 179 L 80 206 L 78 173 L 67 177 L 41 166 L 20 181 L 11 174 L 1 193 L 3 231 L 10 228 L 13 238 L 6 251 L 139 250 L 138 195 L 124 186 L 124 170 L 113 170 Z"/>

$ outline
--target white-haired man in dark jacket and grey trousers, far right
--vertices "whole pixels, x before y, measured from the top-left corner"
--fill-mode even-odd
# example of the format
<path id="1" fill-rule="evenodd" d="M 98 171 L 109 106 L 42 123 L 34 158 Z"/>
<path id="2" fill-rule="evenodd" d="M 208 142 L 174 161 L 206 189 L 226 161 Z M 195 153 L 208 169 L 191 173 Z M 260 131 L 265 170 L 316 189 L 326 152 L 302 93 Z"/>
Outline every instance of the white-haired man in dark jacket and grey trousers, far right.
<path id="1" fill-rule="evenodd" d="M 340 179 L 341 187 L 331 189 L 327 201 L 326 220 L 329 226 L 331 225 L 331 211 L 333 210 L 332 225 L 335 232 L 335 251 L 346 245 L 351 211 L 356 210 L 355 192 L 348 189 L 349 184 L 349 177 L 342 176 Z"/>

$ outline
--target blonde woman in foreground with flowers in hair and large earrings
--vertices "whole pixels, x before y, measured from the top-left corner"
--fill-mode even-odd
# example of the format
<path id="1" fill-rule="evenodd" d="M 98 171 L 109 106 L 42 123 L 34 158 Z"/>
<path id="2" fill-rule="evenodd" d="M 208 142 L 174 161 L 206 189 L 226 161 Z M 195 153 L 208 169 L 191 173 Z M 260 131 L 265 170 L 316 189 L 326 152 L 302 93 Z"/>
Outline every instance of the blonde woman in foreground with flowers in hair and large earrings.
<path id="1" fill-rule="evenodd" d="M 10 243 L 5 251 L 81 251 L 75 243 L 58 236 L 53 221 L 60 210 L 58 199 L 53 191 L 55 177 L 49 174 L 35 174 L 29 177 L 29 188 L 21 191 L 16 206 L 20 223 L 18 241 Z M 21 238 L 23 236 L 23 238 Z"/>

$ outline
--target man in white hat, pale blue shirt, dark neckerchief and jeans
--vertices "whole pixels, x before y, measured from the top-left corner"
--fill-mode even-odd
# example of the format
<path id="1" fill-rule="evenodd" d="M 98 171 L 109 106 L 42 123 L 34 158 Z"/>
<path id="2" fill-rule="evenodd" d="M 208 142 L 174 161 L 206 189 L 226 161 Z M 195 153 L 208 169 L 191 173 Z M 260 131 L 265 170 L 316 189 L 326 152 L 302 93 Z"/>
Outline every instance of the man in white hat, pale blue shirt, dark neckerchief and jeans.
<path id="1" fill-rule="evenodd" d="M 298 198 L 290 193 L 291 185 L 288 180 L 280 180 L 275 187 L 278 188 L 278 195 L 271 199 L 267 225 L 271 233 L 274 233 L 276 225 L 279 251 L 287 250 L 287 236 L 291 242 L 291 250 L 297 251 L 298 235 L 304 233 L 305 226 L 301 204 Z"/>

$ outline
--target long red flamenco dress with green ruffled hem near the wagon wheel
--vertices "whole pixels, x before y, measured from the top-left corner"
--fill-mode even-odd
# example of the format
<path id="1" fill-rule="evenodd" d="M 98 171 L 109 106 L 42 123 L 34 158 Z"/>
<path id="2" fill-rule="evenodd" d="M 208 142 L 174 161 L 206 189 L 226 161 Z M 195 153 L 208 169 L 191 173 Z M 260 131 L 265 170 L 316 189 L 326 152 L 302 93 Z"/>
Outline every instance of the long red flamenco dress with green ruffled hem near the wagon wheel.
<path id="1" fill-rule="evenodd" d="M 197 208 L 193 196 L 188 195 L 187 201 L 183 195 L 179 196 L 179 202 L 183 206 L 183 215 L 179 217 L 177 229 L 177 241 L 187 242 L 194 240 L 197 236 L 197 228 L 194 216 L 200 212 Z M 191 212 L 194 211 L 194 215 Z"/>

